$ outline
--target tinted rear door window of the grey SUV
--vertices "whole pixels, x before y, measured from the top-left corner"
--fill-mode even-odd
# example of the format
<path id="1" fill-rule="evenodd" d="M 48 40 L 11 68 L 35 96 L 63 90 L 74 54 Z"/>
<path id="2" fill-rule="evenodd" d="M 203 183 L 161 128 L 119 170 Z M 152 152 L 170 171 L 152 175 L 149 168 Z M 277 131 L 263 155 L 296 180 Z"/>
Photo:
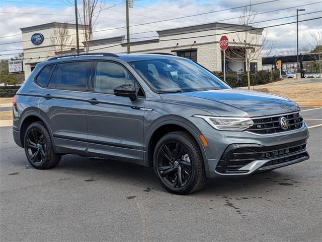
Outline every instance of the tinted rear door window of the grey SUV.
<path id="1" fill-rule="evenodd" d="M 61 63 L 56 66 L 48 87 L 55 88 L 56 86 L 57 89 L 86 91 L 91 71 L 91 62 Z"/>

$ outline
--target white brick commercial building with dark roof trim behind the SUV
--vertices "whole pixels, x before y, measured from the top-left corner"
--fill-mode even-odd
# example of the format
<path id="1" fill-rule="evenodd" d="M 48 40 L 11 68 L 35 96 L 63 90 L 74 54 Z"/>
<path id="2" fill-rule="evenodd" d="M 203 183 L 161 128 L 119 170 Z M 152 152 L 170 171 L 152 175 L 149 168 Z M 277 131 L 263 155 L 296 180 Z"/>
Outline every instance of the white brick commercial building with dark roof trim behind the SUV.
<path id="1" fill-rule="evenodd" d="M 52 41 L 54 29 L 56 26 L 62 26 L 63 23 L 48 23 L 28 28 L 22 28 L 23 40 L 30 40 L 34 34 L 41 34 L 45 38 L 42 43 L 36 44 L 32 41 L 26 41 L 23 44 L 25 61 L 25 75 L 29 76 L 30 72 L 38 62 L 45 61 L 46 56 L 52 56 L 61 53 L 75 52 L 75 38 L 64 47 L 64 51 L 58 51 L 57 45 Z M 70 34 L 75 33 L 75 25 L 68 24 Z M 251 26 L 243 26 L 227 23 L 207 23 L 188 27 L 180 27 L 156 31 L 158 38 L 131 41 L 131 53 L 172 53 L 178 56 L 190 58 L 198 64 L 204 66 L 210 71 L 220 72 L 223 69 L 223 53 L 219 48 L 219 39 L 222 35 L 226 35 L 229 39 L 229 46 L 226 51 L 238 49 L 243 51 L 243 35 L 247 31 L 248 35 L 262 35 L 262 28 L 253 28 Z M 79 37 L 81 48 L 84 49 L 82 27 L 79 27 Z M 74 36 L 74 35 L 73 35 Z M 37 36 L 36 36 L 37 37 Z M 261 39 L 261 38 L 251 38 Z M 127 44 L 125 36 L 116 36 L 111 38 L 96 39 L 89 43 L 90 52 L 112 52 L 126 53 Z M 59 47 L 59 46 L 58 46 Z M 61 46 L 60 46 L 61 47 Z M 248 45 L 244 51 L 262 51 L 261 42 L 256 41 Z M 246 49 L 246 48 L 244 48 Z M 40 53 L 35 53 L 40 51 Z M 48 51 L 48 52 L 47 52 Z M 28 58 L 32 58 L 29 59 Z M 39 57 L 39 58 L 38 58 Z M 251 62 L 251 72 L 262 70 L 262 57 L 259 54 L 258 59 Z M 245 58 L 240 54 L 230 55 L 226 59 L 227 72 L 245 71 Z"/>

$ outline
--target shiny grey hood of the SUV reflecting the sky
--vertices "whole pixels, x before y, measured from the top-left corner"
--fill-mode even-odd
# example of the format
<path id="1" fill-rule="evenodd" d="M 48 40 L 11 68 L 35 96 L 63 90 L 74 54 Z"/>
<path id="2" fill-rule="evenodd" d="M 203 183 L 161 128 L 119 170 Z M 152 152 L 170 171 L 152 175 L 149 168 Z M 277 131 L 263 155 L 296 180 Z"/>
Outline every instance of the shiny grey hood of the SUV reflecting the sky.
<path id="1" fill-rule="evenodd" d="M 220 116 L 256 117 L 299 110 L 298 105 L 287 98 L 243 89 L 171 93 L 160 96 L 166 101 L 198 106 Z"/>

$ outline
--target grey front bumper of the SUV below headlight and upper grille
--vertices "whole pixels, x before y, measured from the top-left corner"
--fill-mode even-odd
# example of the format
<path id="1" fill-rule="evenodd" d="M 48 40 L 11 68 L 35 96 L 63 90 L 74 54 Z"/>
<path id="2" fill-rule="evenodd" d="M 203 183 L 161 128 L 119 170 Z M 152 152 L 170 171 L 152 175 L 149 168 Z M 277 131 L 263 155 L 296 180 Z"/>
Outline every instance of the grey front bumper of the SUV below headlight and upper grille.
<path id="1" fill-rule="evenodd" d="M 296 130 L 268 135 L 258 135 L 246 131 L 218 131 L 213 129 L 201 118 L 191 117 L 190 120 L 199 128 L 208 142 L 208 147 L 204 147 L 204 150 L 206 153 L 206 172 L 207 176 L 210 178 L 247 176 L 255 172 L 272 170 L 286 165 L 298 163 L 309 158 L 306 150 L 306 142 L 309 132 L 304 122 L 302 123 L 302 126 Z M 300 146 L 303 145 L 302 143 L 305 144 L 305 147 L 303 146 L 298 150 L 292 150 L 292 146 Z M 254 151 L 255 153 L 262 152 L 262 155 L 258 156 L 254 154 L 254 156 L 251 157 L 253 159 L 249 159 L 249 162 L 246 162 L 245 164 L 243 164 L 243 162 L 236 164 L 239 166 L 236 166 L 235 169 L 228 169 L 227 172 L 226 167 L 219 167 L 220 165 L 222 166 L 220 162 L 222 162 L 222 156 L 229 151 L 228 148 L 236 148 L 234 146 L 243 146 L 244 148 L 249 146 L 251 149 L 258 147 L 255 148 Z M 261 151 L 261 149 L 263 150 Z M 276 151 L 280 149 L 284 149 L 286 151 L 284 151 L 284 153 L 283 151 L 276 153 Z M 263 156 L 263 154 L 269 152 L 275 153 L 266 154 Z M 249 157 L 242 157 L 242 159 L 243 158 Z"/>

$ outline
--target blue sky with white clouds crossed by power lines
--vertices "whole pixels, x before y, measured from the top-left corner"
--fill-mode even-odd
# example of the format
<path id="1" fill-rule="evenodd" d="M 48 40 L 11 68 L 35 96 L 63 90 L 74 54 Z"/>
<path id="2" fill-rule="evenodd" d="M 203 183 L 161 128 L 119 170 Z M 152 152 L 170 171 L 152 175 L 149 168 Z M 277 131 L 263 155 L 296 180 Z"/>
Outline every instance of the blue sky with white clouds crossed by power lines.
<path id="1" fill-rule="evenodd" d="M 245 5 L 268 2 L 269 0 L 134 0 L 130 8 L 130 26 L 183 17 L 176 20 L 150 23 L 130 28 L 133 41 L 156 38 L 157 30 L 196 25 L 209 22 L 238 24 L 238 16 Z M 81 7 L 82 0 L 78 0 Z M 20 28 L 49 22 L 74 23 L 74 0 L 0 0 L 0 59 L 8 59 L 22 52 Z M 306 5 L 306 6 L 301 6 Z M 98 16 L 93 39 L 109 38 L 126 35 L 125 0 L 102 0 L 103 11 Z M 234 9 L 230 9 L 234 8 Z M 299 21 L 322 16 L 322 1 L 318 0 L 279 0 L 271 3 L 255 5 L 257 11 L 254 26 L 267 27 L 296 21 L 296 9 Z M 290 8 L 282 10 L 284 8 Z M 105 9 L 105 10 L 104 10 Z M 230 10 L 225 10 L 230 9 Z M 224 10 L 216 13 L 203 14 L 211 11 Z M 275 11 L 277 10 L 277 11 Z M 268 11 L 274 11 L 265 13 Z M 318 12 L 321 11 L 321 12 Z M 195 17 L 186 17 L 202 14 Z M 286 18 L 288 17 L 288 18 Z M 225 20 L 234 18 L 230 20 Z M 273 20 L 283 18 L 279 20 Z M 267 21 L 270 20 L 270 21 Z M 262 22 L 265 21 L 265 22 Z M 261 22 L 261 23 L 258 23 Z M 106 30 L 118 28 L 114 30 Z M 311 33 L 322 31 L 322 19 L 299 23 L 299 49 L 312 42 Z M 141 33 L 147 32 L 148 33 Z M 269 45 L 274 46 L 272 54 L 296 53 L 296 24 L 265 28 Z M 141 33 L 141 34 L 140 34 Z M 16 42 L 16 43 L 13 43 Z M 9 44 L 6 44 L 9 43 Z"/>

